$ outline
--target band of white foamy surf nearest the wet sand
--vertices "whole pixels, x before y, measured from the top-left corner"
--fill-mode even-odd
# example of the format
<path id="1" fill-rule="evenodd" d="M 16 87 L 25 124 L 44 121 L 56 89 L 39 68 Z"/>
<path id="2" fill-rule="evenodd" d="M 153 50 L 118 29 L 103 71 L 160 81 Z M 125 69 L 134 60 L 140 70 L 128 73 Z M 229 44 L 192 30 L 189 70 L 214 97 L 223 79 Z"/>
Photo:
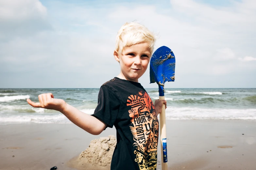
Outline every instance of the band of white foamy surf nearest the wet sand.
<path id="1" fill-rule="evenodd" d="M 94 109 L 81 110 L 93 114 Z M 256 109 L 167 107 L 167 120 L 256 120 Z M 72 123 L 63 114 L 1 115 L 0 122 Z"/>

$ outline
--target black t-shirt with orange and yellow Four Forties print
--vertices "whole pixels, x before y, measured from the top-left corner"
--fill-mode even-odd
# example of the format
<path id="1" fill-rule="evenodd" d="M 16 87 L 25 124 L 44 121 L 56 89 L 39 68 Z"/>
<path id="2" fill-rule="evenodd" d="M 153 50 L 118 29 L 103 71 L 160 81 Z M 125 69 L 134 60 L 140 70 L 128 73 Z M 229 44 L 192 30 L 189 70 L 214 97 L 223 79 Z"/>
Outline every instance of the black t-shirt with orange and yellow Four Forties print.
<path id="1" fill-rule="evenodd" d="M 140 83 L 116 77 L 104 83 L 92 116 L 116 128 L 111 170 L 156 170 L 159 122 Z"/>

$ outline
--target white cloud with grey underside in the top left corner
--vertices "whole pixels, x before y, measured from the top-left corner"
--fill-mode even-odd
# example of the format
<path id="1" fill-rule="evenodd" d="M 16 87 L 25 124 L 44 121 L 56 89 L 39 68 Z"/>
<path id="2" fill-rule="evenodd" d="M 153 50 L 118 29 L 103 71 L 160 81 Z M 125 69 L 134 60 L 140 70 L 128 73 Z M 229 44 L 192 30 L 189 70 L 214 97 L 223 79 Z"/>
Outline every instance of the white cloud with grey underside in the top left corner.
<path id="1" fill-rule="evenodd" d="M 0 42 L 51 29 L 47 9 L 39 0 L 0 1 Z"/>

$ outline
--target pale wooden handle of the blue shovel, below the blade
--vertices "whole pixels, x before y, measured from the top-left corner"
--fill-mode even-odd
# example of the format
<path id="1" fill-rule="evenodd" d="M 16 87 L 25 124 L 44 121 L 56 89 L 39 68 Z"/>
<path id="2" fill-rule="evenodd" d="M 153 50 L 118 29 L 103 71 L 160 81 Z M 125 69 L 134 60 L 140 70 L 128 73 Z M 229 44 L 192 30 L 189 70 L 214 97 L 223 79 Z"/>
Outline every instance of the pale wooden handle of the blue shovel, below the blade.
<path id="1" fill-rule="evenodd" d="M 159 100 L 164 100 L 164 96 L 159 96 Z M 167 170 L 167 162 L 163 162 L 163 139 L 166 140 L 166 123 L 165 123 L 165 105 L 162 106 L 162 113 L 160 113 L 160 140 L 161 140 L 161 160 L 162 170 Z M 166 148 L 167 149 L 167 148 Z M 167 157 L 167 152 L 166 152 Z"/>

